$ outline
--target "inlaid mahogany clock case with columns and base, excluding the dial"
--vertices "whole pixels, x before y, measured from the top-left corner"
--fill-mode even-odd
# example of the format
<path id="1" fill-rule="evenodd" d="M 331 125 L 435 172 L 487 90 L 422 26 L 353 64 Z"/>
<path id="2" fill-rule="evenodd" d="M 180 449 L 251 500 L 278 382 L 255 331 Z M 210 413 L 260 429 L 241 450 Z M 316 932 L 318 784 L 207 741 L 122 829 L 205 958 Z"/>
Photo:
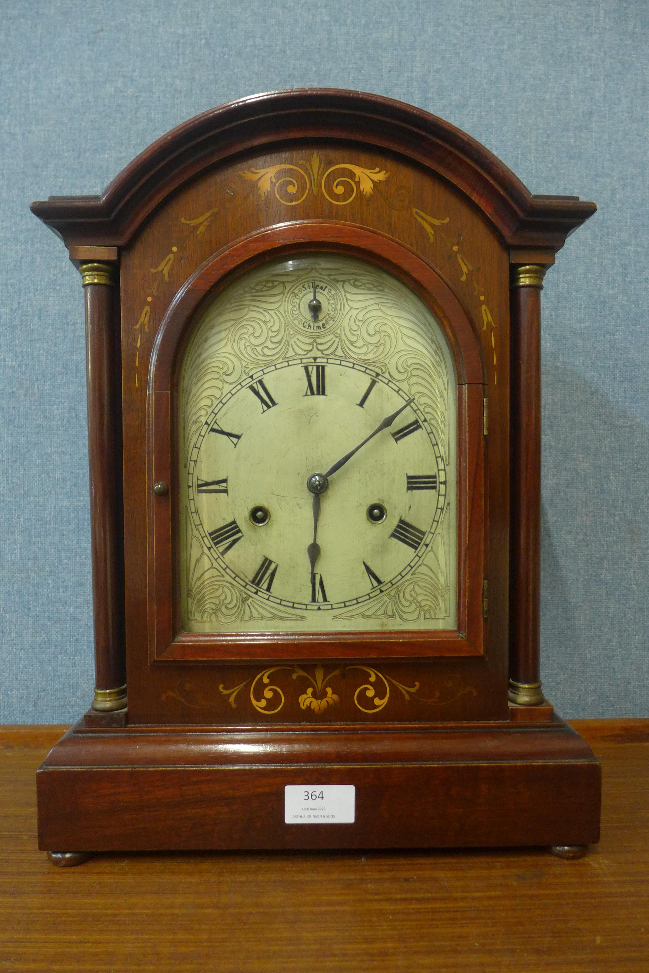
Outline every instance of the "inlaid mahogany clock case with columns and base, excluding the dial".
<path id="1" fill-rule="evenodd" d="M 198 116 L 101 197 L 32 210 L 86 291 L 96 667 L 38 773 L 41 847 L 596 841 L 598 764 L 538 680 L 539 295 L 595 205 L 532 197 L 417 109 L 298 90 Z M 456 629 L 182 631 L 183 350 L 238 274 L 322 252 L 406 283 L 451 347 Z M 284 824 L 284 786 L 315 782 L 355 785 L 354 824 Z"/>

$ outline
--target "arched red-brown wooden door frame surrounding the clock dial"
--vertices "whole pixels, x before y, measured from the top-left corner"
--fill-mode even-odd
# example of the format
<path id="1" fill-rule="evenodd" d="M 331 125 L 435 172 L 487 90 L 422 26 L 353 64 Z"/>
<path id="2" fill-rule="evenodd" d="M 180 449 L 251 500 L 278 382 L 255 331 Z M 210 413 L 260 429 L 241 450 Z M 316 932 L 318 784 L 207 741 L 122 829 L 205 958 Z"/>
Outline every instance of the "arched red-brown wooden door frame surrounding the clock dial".
<path id="1" fill-rule="evenodd" d="M 356 254 L 373 260 L 419 293 L 441 323 L 451 346 L 458 377 L 458 631 L 369 631 L 300 634 L 198 634 L 182 632 L 179 586 L 174 593 L 173 540 L 179 531 L 177 475 L 172 408 L 177 395 L 181 351 L 214 286 L 231 282 L 233 271 L 249 269 L 251 260 L 304 250 Z M 175 372 L 175 375 L 174 375 Z M 376 231 L 325 220 L 301 221 L 250 234 L 209 259 L 178 291 L 164 316 L 149 370 L 148 462 L 151 483 L 171 483 L 170 495 L 149 497 L 149 658 L 150 661 L 389 659 L 390 657 L 481 656 L 485 653 L 482 597 L 485 577 L 483 398 L 487 381 L 475 325 L 441 276 L 410 249 Z M 497 474 L 496 474 L 497 475 Z M 501 474 L 502 479 L 502 474 Z M 174 488 L 174 486 L 176 488 Z M 175 522 L 175 530 L 174 530 Z M 501 571 L 504 567 L 501 566 Z M 495 575 L 495 571 L 493 572 Z M 494 579 L 495 580 L 495 579 Z M 504 581 L 504 579 L 502 579 Z M 175 602 L 175 604 L 174 604 Z M 173 605 L 173 610 L 172 610 Z M 173 625 L 175 619 L 175 625 Z M 131 696 L 132 700 L 132 696 Z M 296 714 L 298 715 L 298 714 Z"/>

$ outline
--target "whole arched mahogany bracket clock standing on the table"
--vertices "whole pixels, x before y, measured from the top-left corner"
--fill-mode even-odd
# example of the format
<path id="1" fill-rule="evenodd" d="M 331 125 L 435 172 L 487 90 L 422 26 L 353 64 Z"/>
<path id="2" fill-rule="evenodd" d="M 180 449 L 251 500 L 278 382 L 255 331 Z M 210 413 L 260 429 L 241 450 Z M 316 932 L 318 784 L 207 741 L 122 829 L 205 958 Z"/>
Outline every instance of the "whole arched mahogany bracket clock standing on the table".
<path id="1" fill-rule="evenodd" d="M 539 679 L 540 292 L 595 204 L 291 90 L 31 208 L 86 295 L 96 671 L 40 847 L 596 842 Z"/>

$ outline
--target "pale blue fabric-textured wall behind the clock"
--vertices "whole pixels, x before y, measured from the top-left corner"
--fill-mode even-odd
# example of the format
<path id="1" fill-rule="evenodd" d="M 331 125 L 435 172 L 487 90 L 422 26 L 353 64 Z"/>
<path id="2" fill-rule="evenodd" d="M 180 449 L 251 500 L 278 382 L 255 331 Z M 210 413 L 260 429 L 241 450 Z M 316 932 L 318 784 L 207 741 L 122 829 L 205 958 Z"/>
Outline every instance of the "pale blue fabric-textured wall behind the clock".
<path id="1" fill-rule="evenodd" d="M 543 678 L 649 715 L 646 0 L 14 0 L 0 10 L 0 722 L 90 703 L 83 296 L 33 199 L 102 189 L 198 112 L 376 91 L 535 193 L 595 199 L 543 295 Z"/>

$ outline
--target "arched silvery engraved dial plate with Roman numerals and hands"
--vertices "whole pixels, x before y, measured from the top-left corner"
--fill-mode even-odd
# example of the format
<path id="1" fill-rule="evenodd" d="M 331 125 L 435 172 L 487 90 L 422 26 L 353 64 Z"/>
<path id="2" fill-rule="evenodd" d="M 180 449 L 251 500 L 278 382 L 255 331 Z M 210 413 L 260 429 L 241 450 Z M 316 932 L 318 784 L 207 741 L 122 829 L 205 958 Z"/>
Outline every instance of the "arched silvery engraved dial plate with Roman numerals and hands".
<path id="1" fill-rule="evenodd" d="M 356 259 L 219 295 L 180 380 L 183 627 L 452 628 L 455 389 L 428 308 Z"/>

